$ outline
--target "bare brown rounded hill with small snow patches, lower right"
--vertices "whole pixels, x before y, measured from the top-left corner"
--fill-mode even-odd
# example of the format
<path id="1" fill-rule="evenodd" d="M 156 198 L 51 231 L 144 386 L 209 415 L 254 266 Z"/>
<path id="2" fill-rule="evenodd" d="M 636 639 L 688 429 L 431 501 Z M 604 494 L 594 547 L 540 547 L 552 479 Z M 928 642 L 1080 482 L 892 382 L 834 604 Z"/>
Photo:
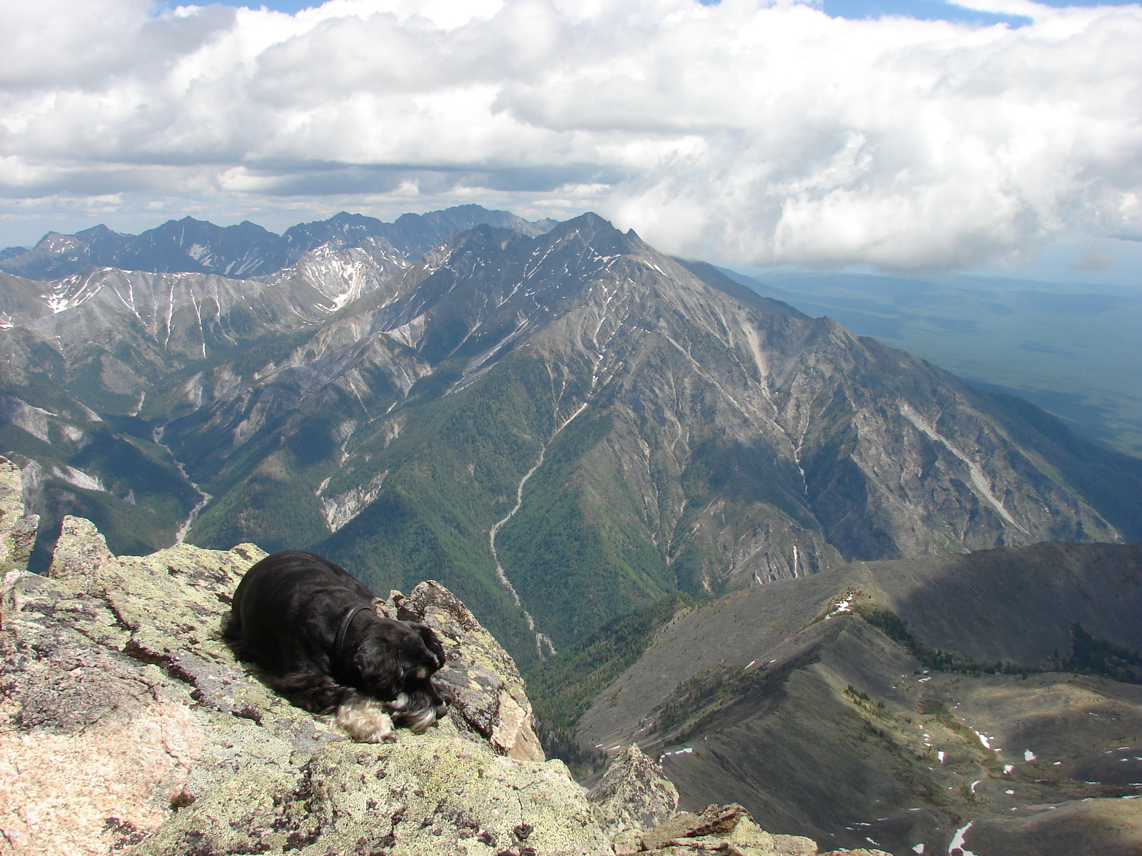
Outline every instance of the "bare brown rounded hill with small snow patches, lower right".
<path id="1" fill-rule="evenodd" d="M 1136 544 L 846 565 L 660 622 L 580 735 L 662 756 L 683 806 L 835 846 L 1134 853 L 1142 687 L 1099 672 L 1134 656 L 1142 681 L 1140 609 Z"/>

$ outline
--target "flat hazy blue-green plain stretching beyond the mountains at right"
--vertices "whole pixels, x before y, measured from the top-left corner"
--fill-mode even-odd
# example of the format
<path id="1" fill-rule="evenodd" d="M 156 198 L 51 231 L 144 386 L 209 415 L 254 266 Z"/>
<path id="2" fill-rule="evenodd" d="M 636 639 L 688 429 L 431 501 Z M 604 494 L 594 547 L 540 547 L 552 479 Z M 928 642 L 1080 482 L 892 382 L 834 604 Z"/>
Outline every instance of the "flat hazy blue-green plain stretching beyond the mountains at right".
<path id="1" fill-rule="evenodd" d="M 867 274 L 733 274 L 759 293 L 1028 398 L 1142 454 L 1136 288 Z"/>

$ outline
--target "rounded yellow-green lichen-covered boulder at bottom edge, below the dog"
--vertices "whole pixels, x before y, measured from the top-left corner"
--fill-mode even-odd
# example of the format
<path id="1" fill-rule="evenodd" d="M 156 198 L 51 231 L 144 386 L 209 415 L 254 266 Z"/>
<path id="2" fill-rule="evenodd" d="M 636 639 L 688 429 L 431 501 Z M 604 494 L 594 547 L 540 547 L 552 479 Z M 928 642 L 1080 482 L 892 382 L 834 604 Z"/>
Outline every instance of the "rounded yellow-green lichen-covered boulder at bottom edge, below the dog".
<path id="1" fill-rule="evenodd" d="M 560 761 L 496 754 L 456 734 L 395 744 L 339 742 L 289 777 L 243 776 L 184 809 L 138 856 L 609 856 L 581 790 Z"/>

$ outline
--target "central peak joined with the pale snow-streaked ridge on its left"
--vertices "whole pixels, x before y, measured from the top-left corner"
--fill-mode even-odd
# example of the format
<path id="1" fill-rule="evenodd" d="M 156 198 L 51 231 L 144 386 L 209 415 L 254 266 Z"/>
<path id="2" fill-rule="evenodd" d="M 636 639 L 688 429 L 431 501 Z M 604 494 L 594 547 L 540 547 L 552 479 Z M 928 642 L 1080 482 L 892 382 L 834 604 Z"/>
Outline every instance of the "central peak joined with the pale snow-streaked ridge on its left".
<path id="1" fill-rule="evenodd" d="M 523 662 L 675 590 L 1142 534 L 1139 461 L 695 269 L 585 215 L 39 304 L 9 277 L 0 439 L 119 551 L 201 504 L 195 543 L 439 579 Z"/>

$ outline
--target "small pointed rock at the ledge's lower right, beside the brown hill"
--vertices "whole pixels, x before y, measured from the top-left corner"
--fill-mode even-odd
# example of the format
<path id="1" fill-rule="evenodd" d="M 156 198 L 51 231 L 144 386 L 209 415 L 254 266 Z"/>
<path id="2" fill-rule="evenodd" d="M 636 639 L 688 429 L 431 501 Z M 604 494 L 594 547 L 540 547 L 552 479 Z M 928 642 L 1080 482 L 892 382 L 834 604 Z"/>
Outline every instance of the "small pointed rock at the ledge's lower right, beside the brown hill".
<path id="1" fill-rule="evenodd" d="M 603 830 L 621 847 L 674 817 L 678 790 L 661 767 L 632 744 L 611 761 L 587 801 Z"/>

